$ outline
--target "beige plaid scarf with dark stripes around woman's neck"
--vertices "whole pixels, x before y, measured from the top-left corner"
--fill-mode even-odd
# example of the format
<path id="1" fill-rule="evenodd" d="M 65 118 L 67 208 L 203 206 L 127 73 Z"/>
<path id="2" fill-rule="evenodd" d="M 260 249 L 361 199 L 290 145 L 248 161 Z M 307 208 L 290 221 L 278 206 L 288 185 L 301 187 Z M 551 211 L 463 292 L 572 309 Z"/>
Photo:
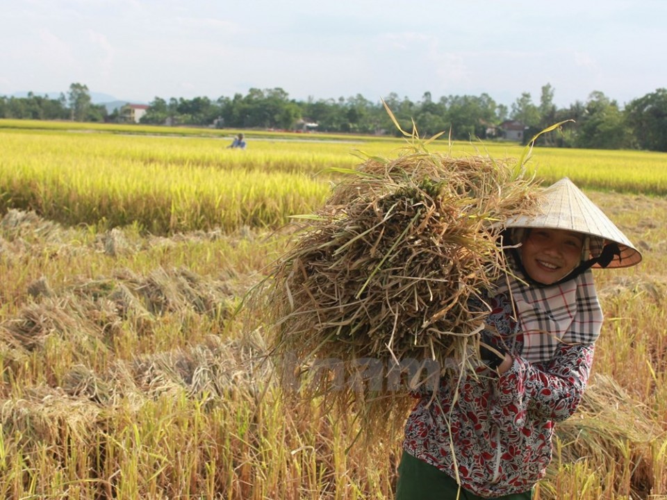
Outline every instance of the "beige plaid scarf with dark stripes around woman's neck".
<path id="1" fill-rule="evenodd" d="M 508 276 L 497 292 L 507 294 L 508 290 L 519 319 L 520 333 L 515 342 L 522 344 L 518 351 L 527 361 L 551 360 L 561 342 L 592 344 L 598 339 L 602 309 L 590 269 L 564 283 L 545 287 Z"/>

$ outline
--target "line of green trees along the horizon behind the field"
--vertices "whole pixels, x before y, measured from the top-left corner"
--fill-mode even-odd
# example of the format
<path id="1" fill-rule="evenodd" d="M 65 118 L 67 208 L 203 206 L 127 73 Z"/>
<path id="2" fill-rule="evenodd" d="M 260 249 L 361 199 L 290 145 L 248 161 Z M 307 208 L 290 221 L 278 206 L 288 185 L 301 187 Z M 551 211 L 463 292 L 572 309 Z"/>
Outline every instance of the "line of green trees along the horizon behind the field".
<path id="1" fill-rule="evenodd" d="M 541 88 L 538 102 L 523 92 L 511 108 L 497 103 L 488 94 L 450 95 L 434 99 L 425 92 L 420 101 L 400 98 L 391 93 L 384 97 L 404 130 L 413 122 L 420 135 L 445 131 L 446 138 L 470 140 L 502 138 L 501 124 L 512 120 L 524 127 L 525 140 L 555 123 L 572 120 L 559 134 L 542 135 L 539 141 L 552 147 L 588 149 L 645 149 L 667 151 L 667 90 L 633 99 L 624 107 L 603 92 L 592 92 L 586 101 L 575 101 L 568 108 L 554 105 L 554 88 Z M 0 118 L 69 119 L 78 122 L 121 122 L 121 110 L 109 113 L 103 104 L 93 104 L 88 87 L 72 83 L 67 95 L 58 99 L 28 94 L 28 97 L 0 97 Z M 290 99 L 281 88 L 251 88 L 247 94 L 233 97 L 208 97 L 168 101 L 155 97 L 140 122 L 172 126 L 217 126 L 219 128 L 261 128 L 307 130 L 317 124 L 317 131 L 400 135 L 381 101 L 370 101 L 357 94 L 338 99 L 306 101 Z"/>

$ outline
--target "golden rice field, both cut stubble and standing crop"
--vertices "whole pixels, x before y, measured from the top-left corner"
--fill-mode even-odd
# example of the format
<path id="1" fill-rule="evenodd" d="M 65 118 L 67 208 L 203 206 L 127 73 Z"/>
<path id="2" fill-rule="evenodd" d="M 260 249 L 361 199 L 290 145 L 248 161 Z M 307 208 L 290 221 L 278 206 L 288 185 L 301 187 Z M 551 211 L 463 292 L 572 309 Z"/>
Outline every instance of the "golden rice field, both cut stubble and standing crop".
<path id="1" fill-rule="evenodd" d="M 0 497 L 390 499 L 400 428 L 281 397 L 242 298 L 357 151 L 404 142 L 0 121 Z M 316 139 L 316 140 L 313 140 Z M 515 144 L 447 144 L 518 157 Z M 667 155 L 536 149 L 641 249 L 538 499 L 667 498 Z M 241 308 L 242 311 L 242 308 Z"/>

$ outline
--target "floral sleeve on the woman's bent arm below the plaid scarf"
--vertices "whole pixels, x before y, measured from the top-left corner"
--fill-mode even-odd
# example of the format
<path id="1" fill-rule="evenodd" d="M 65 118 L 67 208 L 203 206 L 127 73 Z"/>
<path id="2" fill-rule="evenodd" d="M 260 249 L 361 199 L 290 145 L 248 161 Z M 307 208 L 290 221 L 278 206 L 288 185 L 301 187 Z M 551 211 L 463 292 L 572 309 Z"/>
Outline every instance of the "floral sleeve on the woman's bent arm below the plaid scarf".
<path id="1" fill-rule="evenodd" d="M 561 344 L 548 363 L 515 358 L 498 378 L 502 412 L 554 422 L 571 417 L 582 400 L 594 351 L 594 344 Z"/>

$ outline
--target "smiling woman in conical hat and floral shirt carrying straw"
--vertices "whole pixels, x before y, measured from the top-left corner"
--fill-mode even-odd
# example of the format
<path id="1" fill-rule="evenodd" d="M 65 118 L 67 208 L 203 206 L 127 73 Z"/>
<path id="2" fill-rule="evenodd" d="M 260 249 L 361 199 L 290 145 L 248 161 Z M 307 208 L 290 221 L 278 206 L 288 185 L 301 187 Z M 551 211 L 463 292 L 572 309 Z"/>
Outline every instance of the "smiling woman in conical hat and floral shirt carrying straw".
<path id="1" fill-rule="evenodd" d="M 515 275 L 471 304 L 490 310 L 484 366 L 422 394 L 406 424 L 397 500 L 532 498 L 554 424 L 575 412 L 593 363 L 602 311 L 590 268 L 641 261 L 568 178 L 545 190 L 540 215 L 511 220 L 505 233 Z"/>

